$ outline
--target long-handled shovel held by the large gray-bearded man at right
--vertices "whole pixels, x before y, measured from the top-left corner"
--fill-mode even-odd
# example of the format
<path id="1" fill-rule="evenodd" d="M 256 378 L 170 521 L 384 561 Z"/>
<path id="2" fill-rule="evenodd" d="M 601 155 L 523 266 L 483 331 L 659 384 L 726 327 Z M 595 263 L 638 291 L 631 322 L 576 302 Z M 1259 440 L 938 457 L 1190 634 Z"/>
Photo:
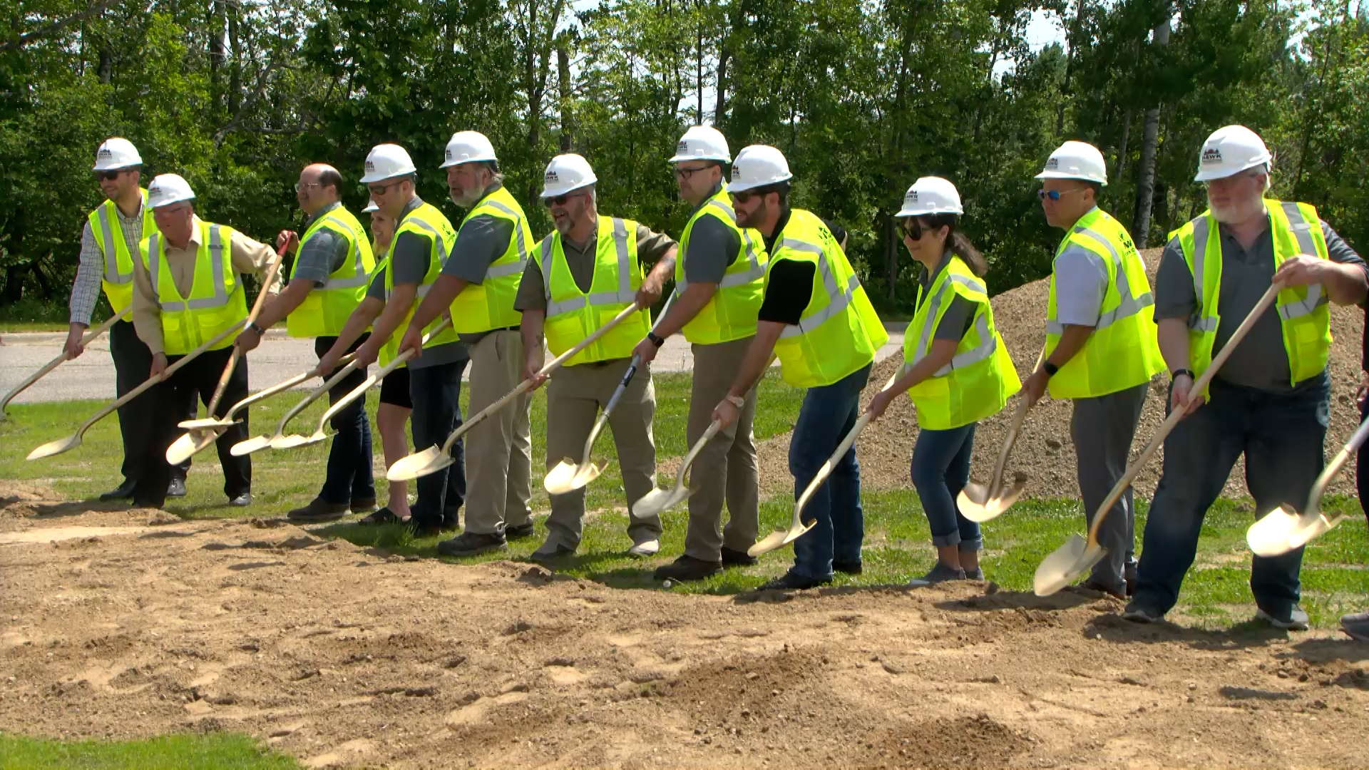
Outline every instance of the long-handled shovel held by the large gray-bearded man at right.
<path id="1" fill-rule="evenodd" d="M 1250 332 L 1250 327 L 1255 325 L 1255 321 L 1258 321 L 1265 310 L 1273 304 L 1275 297 L 1279 296 L 1279 289 L 1281 288 L 1283 284 L 1270 285 L 1269 290 L 1265 292 L 1265 296 L 1259 299 L 1259 303 L 1251 308 L 1250 315 L 1240 322 L 1240 326 L 1236 327 L 1231 340 L 1228 340 L 1221 348 L 1221 352 L 1213 358 L 1207 370 L 1203 371 L 1202 377 L 1192 384 L 1192 388 L 1188 390 L 1188 403 L 1192 403 L 1192 400 L 1197 399 L 1205 388 L 1207 388 L 1207 382 L 1214 374 L 1217 374 L 1221 364 L 1227 362 L 1227 358 L 1231 356 L 1231 351 L 1236 349 L 1236 345 L 1244 338 L 1246 333 Z M 1051 593 L 1055 593 L 1083 577 L 1086 571 L 1102 560 L 1103 554 L 1106 554 L 1106 548 L 1098 544 L 1099 525 L 1103 518 L 1108 517 L 1108 511 L 1113 507 L 1117 499 L 1121 497 L 1121 493 L 1125 492 L 1127 486 L 1129 486 L 1132 480 L 1136 478 L 1136 474 L 1140 473 L 1140 469 L 1146 467 L 1146 462 L 1150 460 L 1150 456 L 1154 455 L 1155 449 L 1158 449 L 1165 441 L 1169 432 L 1173 430 L 1180 421 L 1183 421 L 1184 414 L 1188 411 L 1187 407 L 1188 404 L 1183 404 L 1170 410 L 1169 417 L 1165 418 L 1160 430 L 1157 430 L 1150 438 L 1150 444 L 1146 444 L 1140 456 L 1131 463 L 1127 473 L 1124 473 L 1121 478 L 1117 480 L 1117 484 L 1113 485 L 1112 492 L 1108 493 L 1108 499 L 1103 500 L 1102 506 L 1099 506 L 1098 511 L 1094 514 L 1094 525 L 1088 527 L 1088 540 L 1086 541 L 1083 537 L 1073 534 L 1064 545 L 1053 551 L 1040 562 L 1040 566 L 1036 567 L 1036 575 L 1034 578 L 1036 596 L 1050 596 Z"/>

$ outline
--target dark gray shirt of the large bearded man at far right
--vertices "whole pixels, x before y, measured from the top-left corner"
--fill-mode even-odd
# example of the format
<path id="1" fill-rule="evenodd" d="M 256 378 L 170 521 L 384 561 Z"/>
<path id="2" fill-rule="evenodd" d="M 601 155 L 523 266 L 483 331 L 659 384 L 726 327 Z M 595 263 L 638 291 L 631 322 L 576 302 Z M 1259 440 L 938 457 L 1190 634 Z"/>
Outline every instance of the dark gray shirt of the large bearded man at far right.
<path id="1" fill-rule="evenodd" d="M 1217 310 L 1221 318 L 1217 322 L 1213 355 L 1221 351 L 1240 322 L 1259 303 L 1259 297 L 1269 289 L 1275 274 L 1272 230 L 1266 229 L 1250 251 L 1242 248 L 1225 225 L 1220 225 L 1218 232 L 1221 233 L 1221 288 L 1217 296 Z M 1331 225 L 1322 222 L 1321 233 L 1327 238 L 1327 252 L 1332 262 L 1358 264 L 1361 269 L 1366 269 L 1365 260 L 1331 229 Z M 1194 290 L 1192 273 L 1188 270 L 1188 263 L 1184 262 L 1179 238 L 1173 237 L 1165 245 L 1165 252 L 1160 258 L 1160 273 L 1155 275 L 1155 321 L 1165 318 L 1187 321 L 1197 312 L 1198 296 Z M 1231 358 L 1227 359 L 1214 378 L 1272 393 L 1292 390 L 1288 351 L 1284 349 L 1283 343 L 1283 325 L 1273 308 L 1255 321 L 1250 333 L 1236 349 L 1231 351 Z"/>

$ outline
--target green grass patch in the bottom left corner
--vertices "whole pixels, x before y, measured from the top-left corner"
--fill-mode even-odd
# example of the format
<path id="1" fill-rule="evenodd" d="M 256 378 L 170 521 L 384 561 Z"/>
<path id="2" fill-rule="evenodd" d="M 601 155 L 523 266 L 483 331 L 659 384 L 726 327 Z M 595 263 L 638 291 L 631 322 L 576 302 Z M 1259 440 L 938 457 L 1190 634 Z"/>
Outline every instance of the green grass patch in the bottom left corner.
<path id="1" fill-rule="evenodd" d="M 140 741 L 59 741 L 0 734 L 0 770 L 292 769 L 294 759 L 242 734 L 162 736 Z"/>

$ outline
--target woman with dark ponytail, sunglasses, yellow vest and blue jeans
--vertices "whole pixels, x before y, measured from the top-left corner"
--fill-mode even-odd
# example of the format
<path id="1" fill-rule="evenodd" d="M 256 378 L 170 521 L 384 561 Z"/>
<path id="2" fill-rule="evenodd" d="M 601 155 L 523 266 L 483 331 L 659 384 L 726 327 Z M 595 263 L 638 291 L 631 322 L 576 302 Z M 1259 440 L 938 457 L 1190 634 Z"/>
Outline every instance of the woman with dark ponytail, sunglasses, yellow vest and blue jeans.
<path id="1" fill-rule="evenodd" d="M 984 258 L 956 229 L 960 193 L 949 181 L 923 177 L 908 189 L 904 245 L 921 263 L 917 311 L 904 333 L 904 370 L 876 395 L 867 411 L 884 414 L 898 393 L 917 407 L 921 432 L 913 448 L 912 477 L 936 547 L 936 566 L 909 585 L 983 580 L 979 525 L 956 507 L 969 481 L 975 425 L 1003 408 L 1021 389 L 1002 337 L 994 327 L 983 274 Z"/>

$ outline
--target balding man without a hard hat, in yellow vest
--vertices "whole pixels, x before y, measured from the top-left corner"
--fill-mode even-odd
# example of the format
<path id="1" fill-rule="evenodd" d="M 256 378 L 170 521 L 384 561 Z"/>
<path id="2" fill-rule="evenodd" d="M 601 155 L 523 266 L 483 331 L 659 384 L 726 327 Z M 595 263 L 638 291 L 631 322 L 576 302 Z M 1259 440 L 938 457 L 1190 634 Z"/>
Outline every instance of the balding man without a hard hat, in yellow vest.
<path id="1" fill-rule="evenodd" d="M 314 340 L 318 356 L 329 352 L 348 316 L 361 303 L 367 281 L 375 270 L 371 241 L 361 222 L 342 206 L 342 174 L 333 166 L 314 163 L 300 171 L 294 196 L 308 218 L 304 237 L 281 230 L 277 248 L 294 255 L 290 282 L 244 329 L 237 347 L 246 353 L 261 343 L 261 336 L 282 318 L 292 337 Z M 352 352 L 366 340 L 352 343 Z M 326 371 L 324 380 L 334 371 Z M 359 366 L 329 390 L 335 403 L 366 380 Z M 333 415 L 333 447 L 329 449 L 323 489 L 308 506 L 294 508 L 290 519 L 324 522 L 342 518 L 348 511 L 363 514 L 375 508 L 375 478 L 371 473 L 371 421 L 366 417 L 366 399 L 352 401 Z"/>

